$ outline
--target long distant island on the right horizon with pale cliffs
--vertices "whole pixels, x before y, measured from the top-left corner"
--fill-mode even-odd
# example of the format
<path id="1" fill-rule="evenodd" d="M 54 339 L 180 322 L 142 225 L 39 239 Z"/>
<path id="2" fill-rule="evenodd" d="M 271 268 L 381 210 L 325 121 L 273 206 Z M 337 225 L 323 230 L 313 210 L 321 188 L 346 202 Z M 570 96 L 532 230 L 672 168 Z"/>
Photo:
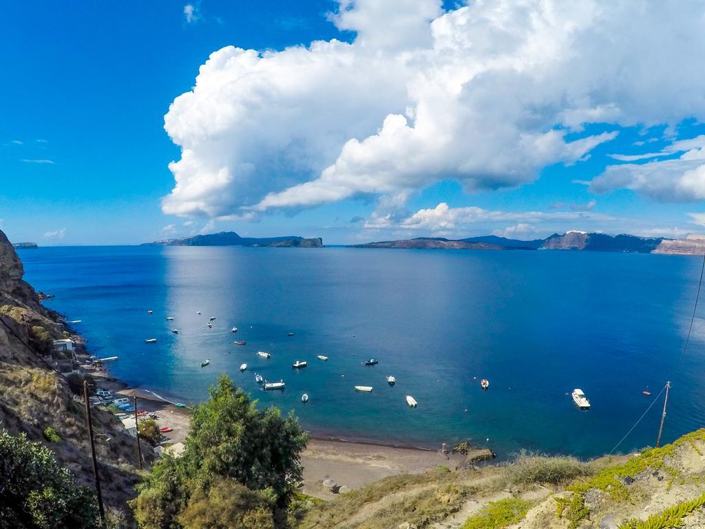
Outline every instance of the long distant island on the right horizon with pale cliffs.
<path id="1" fill-rule="evenodd" d="M 415 248 L 446 250 L 579 250 L 591 252 L 663 253 L 671 255 L 702 255 L 705 253 L 705 236 L 690 235 L 685 239 L 639 237 L 620 234 L 616 236 L 585 231 L 553 233 L 545 239 L 520 241 L 494 235 L 447 239 L 419 237 L 399 241 L 379 241 L 355 244 L 351 248 Z"/>

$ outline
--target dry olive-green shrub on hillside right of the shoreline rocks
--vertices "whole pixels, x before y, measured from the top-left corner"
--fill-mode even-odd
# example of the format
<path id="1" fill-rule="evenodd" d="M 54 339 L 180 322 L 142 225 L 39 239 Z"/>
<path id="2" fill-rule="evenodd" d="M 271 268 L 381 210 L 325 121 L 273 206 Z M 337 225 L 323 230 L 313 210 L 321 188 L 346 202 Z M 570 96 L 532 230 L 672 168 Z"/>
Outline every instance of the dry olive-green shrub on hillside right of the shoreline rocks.
<path id="1" fill-rule="evenodd" d="M 548 457 L 521 451 L 507 471 L 510 482 L 516 485 L 561 485 L 594 474 L 594 467 L 570 456 Z"/>

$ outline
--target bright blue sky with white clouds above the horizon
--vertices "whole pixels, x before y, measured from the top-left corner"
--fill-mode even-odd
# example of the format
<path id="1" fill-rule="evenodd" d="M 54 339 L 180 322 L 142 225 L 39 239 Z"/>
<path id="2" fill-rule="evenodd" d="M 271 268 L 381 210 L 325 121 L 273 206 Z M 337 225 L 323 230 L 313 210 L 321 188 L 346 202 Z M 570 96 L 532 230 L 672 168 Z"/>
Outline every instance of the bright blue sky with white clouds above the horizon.
<path id="1" fill-rule="evenodd" d="M 705 233 L 705 4 L 12 2 L 0 229 Z"/>

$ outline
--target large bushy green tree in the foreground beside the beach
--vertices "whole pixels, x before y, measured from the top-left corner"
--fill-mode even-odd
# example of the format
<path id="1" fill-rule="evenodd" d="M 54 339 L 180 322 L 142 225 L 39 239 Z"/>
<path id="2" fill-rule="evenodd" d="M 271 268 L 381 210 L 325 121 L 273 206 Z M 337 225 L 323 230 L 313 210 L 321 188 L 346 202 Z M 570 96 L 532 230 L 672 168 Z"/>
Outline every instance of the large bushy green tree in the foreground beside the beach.
<path id="1" fill-rule="evenodd" d="M 226 375 L 195 408 L 183 456 L 161 459 L 131 506 L 141 528 L 279 527 L 301 480 L 307 435 L 258 410 Z"/>

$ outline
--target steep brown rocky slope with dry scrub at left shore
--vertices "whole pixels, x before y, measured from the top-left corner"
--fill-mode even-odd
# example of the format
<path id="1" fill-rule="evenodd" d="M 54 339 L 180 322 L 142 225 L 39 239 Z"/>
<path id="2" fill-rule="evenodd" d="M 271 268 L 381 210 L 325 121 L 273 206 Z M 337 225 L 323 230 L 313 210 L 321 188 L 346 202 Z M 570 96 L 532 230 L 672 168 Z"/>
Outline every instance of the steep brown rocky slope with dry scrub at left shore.
<path id="1" fill-rule="evenodd" d="M 71 337 L 80 349 L 80 336 L 65 327 L 58 314 L 41 305 L 34 288 L 23 281 L 23 274 L 13 245 L 0 231 L 0 427 L 11 434 L 25 432 L 30 439 L 43 442 L 62 466 L 92 487 L 85 409 L 74 393 L 79 391 L 80 379 L 74 379 L 72 391 L 68 380 L 49 367 L 54 365 L 61 371 L 77 367 L 66 353 L 53 350 L 52 341 Z M 59 435 L 59 441 L 45 439 L 49 427 Z M 124 510 L 138 479 L 135 441 L 114 415 L 97 408 L 93 427 L 94 432 L 105 434 L 96 446 L 106 505 Z M 106 437 L 110 441 L 101 442 Z M 143 445 L 143 452 L 151 458 L 149 447 Z"/>

